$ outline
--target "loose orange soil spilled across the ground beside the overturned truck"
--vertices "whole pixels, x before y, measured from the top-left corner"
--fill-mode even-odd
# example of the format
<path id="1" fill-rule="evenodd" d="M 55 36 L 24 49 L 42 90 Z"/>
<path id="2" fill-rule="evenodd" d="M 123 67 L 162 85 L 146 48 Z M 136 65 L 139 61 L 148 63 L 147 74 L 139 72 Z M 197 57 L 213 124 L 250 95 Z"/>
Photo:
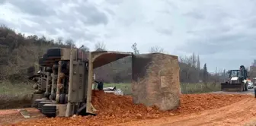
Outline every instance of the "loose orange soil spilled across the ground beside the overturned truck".
<path id="1" fill-rule="evenodd" d="M 161 112 L 156 107 L 134 105 L 130 96 L 116 96 L 101 91 L 93 92 L 92 104 L 98 110 L 97 116 L 75 116 L 72 118 L 42 118 L 23 121 L 13 125 L 107 125 L 146 118 L 162 118 L 217 109 L 238 102 L 247 95 L 190 94 L 181 96 L 181 106 L 176 110 Z"/>

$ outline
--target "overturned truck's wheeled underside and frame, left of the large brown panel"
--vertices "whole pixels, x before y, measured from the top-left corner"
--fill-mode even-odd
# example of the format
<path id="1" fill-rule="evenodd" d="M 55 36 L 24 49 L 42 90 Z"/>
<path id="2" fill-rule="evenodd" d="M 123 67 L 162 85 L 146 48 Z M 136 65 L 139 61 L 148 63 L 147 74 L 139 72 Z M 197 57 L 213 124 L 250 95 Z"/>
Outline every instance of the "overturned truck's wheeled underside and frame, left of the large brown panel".
<path id="1" fill-rule="evenodd" d="M 91 105 L 93 69 L 132 55 L 130 52 L 85 52 L 52 48 L 39 60 L 33 106 L 47 117 L 95 115 Z M 32 68 L 30 68 L 32 71 Z M 102 90 L 102 85 L 98 86 Z"/>

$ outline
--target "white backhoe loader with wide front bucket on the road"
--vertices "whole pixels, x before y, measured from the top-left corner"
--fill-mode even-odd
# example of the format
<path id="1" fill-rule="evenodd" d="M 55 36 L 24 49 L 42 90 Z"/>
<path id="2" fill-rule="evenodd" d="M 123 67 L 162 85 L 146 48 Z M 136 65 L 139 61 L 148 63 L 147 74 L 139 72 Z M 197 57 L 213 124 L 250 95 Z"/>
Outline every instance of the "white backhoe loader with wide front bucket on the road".
<path id="1" fill-rule="evenodd" d="M 248 73 L 245 66 L 241 65 L 239 70 L 229 70 L 229 80 L 221 83 L 222 91 L 247 91 Z"/>

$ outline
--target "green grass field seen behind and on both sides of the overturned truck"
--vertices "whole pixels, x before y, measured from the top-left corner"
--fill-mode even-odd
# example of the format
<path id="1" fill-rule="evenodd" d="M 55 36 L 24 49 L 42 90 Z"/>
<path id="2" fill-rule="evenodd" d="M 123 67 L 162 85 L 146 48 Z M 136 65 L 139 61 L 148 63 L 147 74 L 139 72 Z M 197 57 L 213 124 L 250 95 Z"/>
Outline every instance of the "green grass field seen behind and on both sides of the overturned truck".
<path id="1" fill-rule="evenodd" d="M 0 109 L 30 107 L 33 93 L 32 83 L 0 82 Z M 104 83 L 104 87 L 117 87 L 125 95 L 131 95 L 130 83 Z M 219 91 L 220 84 L 207 83 L 181 83 L 181 93 L 209 93 Z"/>

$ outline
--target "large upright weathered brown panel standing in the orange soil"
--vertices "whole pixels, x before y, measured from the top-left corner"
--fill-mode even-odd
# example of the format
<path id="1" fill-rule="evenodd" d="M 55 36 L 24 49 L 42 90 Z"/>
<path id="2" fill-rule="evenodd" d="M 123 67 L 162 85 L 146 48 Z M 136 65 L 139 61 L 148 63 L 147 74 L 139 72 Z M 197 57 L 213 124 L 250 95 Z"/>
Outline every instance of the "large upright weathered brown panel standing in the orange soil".
<path id="1" fill-rule="evenodd" d="M 153 53 L 133 55 L 133 102 L 161 110 L 180 106 L 178 56 Z"/>

